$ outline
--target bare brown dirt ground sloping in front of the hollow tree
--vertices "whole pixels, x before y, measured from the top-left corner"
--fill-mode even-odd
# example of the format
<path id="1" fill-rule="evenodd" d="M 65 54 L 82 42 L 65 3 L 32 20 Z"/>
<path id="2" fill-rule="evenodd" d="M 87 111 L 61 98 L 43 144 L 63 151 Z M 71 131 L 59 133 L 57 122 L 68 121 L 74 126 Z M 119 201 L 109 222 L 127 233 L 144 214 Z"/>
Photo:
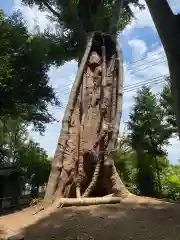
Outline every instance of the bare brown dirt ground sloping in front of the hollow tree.
<path id="1" fill-rule="evenodd" d="M 0 239 L 22 233 L 25 240 L 180 240 L 180 204 L 131 197 L 120 204 L 35 208 L 0 217 Z"/>

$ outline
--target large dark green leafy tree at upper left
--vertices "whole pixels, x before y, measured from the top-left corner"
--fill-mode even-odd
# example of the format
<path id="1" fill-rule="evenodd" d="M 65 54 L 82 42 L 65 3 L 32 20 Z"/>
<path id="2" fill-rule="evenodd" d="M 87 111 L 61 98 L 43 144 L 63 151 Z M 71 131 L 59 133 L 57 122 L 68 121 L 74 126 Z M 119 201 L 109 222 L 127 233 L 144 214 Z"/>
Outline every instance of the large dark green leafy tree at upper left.
<path id="1" fill-rule="evenodd" d="M 54 120 L 49 105 L 59 105 L 49 85 L 47 42 L 28 32 L 20 13 L 0 12 L 0 118 L 21 117 L 44 131 Z"/>

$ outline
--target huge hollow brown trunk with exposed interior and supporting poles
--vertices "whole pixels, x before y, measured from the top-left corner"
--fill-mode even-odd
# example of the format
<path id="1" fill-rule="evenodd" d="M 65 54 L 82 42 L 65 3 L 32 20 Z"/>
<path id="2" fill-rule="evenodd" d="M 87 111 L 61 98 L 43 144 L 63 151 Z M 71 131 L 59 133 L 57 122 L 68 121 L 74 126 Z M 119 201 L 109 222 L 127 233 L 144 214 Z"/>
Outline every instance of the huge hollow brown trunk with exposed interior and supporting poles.
<path id="1" fill-rule="evenodd" d="M 45 204 L 114 202 L 127 196 L 111 158 L 122 112 L 123 61 L 111 36 L 93 34 L 72 87 L 62 122 Z M 67 200 L 66 198 L 77 199 Z M 109 199 L 107 201 L 107 199 Z M 116 198 L 117 199 L 117 198 Z M 119 198 L 118 198 L 119 201 Z"/>

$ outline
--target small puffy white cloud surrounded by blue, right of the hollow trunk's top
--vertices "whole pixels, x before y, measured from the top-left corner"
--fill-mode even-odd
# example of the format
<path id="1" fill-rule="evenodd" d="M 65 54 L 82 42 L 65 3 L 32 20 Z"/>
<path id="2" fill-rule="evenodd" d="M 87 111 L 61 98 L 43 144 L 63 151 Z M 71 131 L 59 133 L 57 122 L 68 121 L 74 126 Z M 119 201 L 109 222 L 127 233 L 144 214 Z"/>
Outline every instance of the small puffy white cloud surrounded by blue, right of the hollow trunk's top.
<path id="1" fill-rule="evenodd" d="M 147 51 L 146 43 L 141 39 L 131 39 L 128 41 L 129 46 L 132 49 L 132 60 L 138 61 Z"/>

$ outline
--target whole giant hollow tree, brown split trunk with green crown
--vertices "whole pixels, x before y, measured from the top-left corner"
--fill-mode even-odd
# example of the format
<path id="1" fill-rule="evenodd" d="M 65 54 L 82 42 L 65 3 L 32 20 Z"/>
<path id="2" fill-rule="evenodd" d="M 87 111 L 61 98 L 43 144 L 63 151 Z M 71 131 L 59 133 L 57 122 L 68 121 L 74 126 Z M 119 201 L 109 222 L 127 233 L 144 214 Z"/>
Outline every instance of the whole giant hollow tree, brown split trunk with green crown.
<path id="1" fill-rule="evenodd" d="M 127 196 L 129 193 L 110 156 L 122 112 L 123 66 L 116 39 L 133 16 L 129 3 L 142 6 L 137 0 L 23 2 L 49 11 L 59 24 L 60 33 L 45 33 L 45 37 L 59 41 L 59 52 L 64 57 L 66 51 L 66 60 L 79 61 L 45 202 L 51 202 L 55 196 L 61 197 L 60 202 L 65 201 L 63 197 L 84 197 L 73 200 L 75 203 L 95 202 L 86 199 L 87 196 L 110 193 Z M 109 201 L 106 197 L 100 200 Z"/>

